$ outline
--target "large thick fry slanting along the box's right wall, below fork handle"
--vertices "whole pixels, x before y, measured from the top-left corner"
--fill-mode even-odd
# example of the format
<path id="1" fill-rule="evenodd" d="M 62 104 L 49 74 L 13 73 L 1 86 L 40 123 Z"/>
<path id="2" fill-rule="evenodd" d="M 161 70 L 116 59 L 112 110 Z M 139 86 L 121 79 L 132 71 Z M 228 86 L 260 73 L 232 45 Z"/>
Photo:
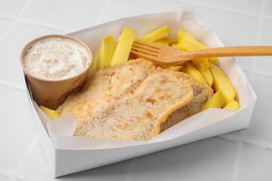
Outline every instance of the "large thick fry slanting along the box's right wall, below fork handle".
<path id="1" fill-rule="evenodd" d="M 229 82 L 229 79 L 225 76 L 225 74 L 218 68 L 218 66 L 211 63 L 210 65 L 211 74 L 213 75 L 213 89 L 215 91 L 221 91 L 222 95 L 225 97 L 225 104 L 229 104 L 232 100 L 234 100 L 236 93 L 232 84 Z"/>

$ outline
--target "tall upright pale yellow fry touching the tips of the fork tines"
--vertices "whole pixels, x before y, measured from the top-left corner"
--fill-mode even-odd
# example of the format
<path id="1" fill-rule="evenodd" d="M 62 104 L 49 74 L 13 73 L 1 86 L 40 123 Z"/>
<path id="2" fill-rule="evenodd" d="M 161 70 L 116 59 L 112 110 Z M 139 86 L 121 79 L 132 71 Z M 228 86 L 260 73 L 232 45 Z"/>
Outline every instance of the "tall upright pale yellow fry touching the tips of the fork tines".
<path id="1" fill-rule="evenodd" d="M 112 61 L 110 62 L 110 65 L 115 65 L 116 63 L 123 63 L 128 61 L 128 56 L 130 54 L 130 49 L 133 46 L 135 36 L 135 31 L 127 28 L 123 29 L 121 36 L 119 36 L 119 41 L 112 56 Z"/>

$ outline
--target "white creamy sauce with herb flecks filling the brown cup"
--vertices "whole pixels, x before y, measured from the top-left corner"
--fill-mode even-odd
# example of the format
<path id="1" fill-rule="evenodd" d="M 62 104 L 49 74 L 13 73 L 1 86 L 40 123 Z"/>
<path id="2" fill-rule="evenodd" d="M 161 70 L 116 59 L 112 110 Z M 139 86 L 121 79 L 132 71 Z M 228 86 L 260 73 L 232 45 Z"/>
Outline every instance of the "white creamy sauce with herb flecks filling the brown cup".
<path id="1" fill-rule="evenodd" d="M 31 74 L 43 79 L 66 79 L 90 64 L 86 48 L 73 40 L 45 38 L 27 50 L 23 60 Z"/>

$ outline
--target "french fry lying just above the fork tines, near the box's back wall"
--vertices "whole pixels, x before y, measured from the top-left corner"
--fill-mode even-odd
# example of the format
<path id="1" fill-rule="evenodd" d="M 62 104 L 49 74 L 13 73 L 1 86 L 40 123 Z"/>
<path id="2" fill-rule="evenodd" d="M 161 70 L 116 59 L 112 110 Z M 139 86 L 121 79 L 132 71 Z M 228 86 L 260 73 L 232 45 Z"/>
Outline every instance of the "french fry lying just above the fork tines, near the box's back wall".
<path id="1" fill-rule="evenodd" d="M 155 42 L 156 40 L 168 37 L 169 35 L 170 35 L 169 27 L 163 26 L 160 29 L 156 29 L 155 31 L 152 31 L 148 35 L 146 35 L 142 38 L 139 38 L 139 41 L 141 41 L 141 42 Z"/>

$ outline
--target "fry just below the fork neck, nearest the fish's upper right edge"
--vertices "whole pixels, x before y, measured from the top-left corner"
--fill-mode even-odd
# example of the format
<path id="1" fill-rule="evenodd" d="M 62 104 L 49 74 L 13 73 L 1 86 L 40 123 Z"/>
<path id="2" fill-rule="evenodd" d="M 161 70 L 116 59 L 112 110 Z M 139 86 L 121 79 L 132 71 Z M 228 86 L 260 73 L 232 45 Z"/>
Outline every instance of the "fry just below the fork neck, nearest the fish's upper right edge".
<path id="1" fill-rule="evenodd" d="M 206 84 L 208 85 L 205 77 L 199 70 L 195 67 L 195 65 L 192 62 L 186 62 L 186 66 L 184 66 L 181 70 L 183 72 L 186 72 L 187 74 L 190 75 L 190 77 L 194 78 L 195 81 L 199 82 L 200 84 Z"/>

